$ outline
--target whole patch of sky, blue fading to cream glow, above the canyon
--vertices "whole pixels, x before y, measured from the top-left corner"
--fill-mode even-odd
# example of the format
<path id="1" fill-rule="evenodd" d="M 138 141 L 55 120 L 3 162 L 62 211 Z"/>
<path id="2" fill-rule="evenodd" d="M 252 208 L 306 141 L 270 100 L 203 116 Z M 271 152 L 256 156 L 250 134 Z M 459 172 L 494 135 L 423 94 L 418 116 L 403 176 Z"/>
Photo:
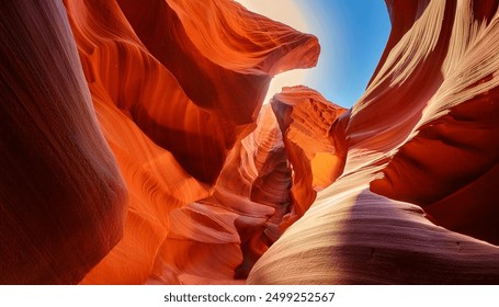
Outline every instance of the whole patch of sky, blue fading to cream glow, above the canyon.
<path id="1" fill-rule="evenodd" d="M 264 103 L 282 87 L 305 84 L 351 107 L 365 90 L 388 39 L 384 0 L 237 0 L 246 8 L 319 38 L 316 68 L 277 75 Z"/>

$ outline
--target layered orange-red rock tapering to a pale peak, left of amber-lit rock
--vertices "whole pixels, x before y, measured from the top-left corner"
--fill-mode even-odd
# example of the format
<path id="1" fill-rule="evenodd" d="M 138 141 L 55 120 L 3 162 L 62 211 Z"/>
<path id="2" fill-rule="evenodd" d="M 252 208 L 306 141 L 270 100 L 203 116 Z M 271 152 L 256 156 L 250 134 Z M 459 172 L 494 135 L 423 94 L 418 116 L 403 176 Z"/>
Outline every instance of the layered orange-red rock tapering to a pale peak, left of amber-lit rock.
<path id="1" fill-rule="evenodd" d="M 257 129 L 230 152 L 213 195 L 170 214 L 165 249 L 182 252 L 165 254 L 148 283 L 243 283 L 281 235 L 290 186 L 281 130 L 264 105 Z"/>

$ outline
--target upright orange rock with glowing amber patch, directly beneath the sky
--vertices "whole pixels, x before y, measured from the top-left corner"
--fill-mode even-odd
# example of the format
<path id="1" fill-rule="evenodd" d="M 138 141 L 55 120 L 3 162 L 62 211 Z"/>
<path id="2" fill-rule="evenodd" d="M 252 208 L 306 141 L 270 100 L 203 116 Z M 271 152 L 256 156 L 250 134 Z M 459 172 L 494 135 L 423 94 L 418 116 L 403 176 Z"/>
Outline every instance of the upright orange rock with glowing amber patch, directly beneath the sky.
<path id="1" fill-rule="evenodd" d="M 285 229 L 304 215 L 317 191 L 330 185 L 343 171 L 344 144 L 330 137 L 334 121 L 347 110 L 304 86 L 283 88 L 271 105 L 276 114 L 284 145 L 293 167 L 292 211 Z"/>

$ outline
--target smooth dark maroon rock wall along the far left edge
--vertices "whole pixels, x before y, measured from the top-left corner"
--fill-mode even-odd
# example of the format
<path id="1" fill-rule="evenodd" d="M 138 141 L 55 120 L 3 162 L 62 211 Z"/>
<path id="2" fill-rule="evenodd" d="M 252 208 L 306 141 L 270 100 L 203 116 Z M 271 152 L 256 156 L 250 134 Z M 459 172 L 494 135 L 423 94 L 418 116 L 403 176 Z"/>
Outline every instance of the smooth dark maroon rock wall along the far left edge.
<path id="1" fill-rule="evenodd" d="M 0 284 L 75 284 L 122 238 L 126 189 L 64 5 L 0 10 Z"/>

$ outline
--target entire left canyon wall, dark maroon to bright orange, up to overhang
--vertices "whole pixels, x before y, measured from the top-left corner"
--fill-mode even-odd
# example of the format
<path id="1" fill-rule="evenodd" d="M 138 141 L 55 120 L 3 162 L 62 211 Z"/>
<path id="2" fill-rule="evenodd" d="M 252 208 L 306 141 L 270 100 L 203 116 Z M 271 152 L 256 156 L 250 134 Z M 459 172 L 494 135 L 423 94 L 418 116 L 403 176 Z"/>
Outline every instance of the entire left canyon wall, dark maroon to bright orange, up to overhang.
<path id="1" fill-rule="evenodd" d="M 2 9 L 1 282 L 245 277 L 290 177 L 283 149 L 266 161 L 243 139 L 271 78 L 317 62 L 317 38 L 228 0 L 42 2 Z M 204 205 L 245 155 L 251 193 L 228 194 L 248 204 Z"/>

